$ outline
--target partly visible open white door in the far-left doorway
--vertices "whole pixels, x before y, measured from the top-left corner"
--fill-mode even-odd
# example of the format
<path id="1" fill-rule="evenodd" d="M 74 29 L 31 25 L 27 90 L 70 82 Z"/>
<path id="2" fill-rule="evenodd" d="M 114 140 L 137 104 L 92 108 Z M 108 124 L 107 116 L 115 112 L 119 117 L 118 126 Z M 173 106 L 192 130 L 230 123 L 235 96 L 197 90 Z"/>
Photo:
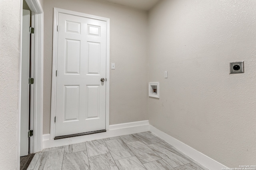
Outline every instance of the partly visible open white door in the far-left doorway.
<path id="1" fill-rule="evenodd" d="M 26 3 L 26 2 L 25 2 Z M 31 115 L 31 51 L 30 51 L 30 10 L 22 10 L 22 57 L 21 57 L 21 111 L 20 111 L 20 156 L 30 153 Z"/>

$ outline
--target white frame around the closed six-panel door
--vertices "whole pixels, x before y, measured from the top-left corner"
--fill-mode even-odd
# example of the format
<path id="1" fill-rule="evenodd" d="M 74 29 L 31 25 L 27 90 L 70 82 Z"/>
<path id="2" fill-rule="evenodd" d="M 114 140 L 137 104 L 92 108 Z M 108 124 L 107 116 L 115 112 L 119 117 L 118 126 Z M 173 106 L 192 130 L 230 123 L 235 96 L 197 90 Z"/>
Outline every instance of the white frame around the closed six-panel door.
<path id="1" fill-rule="evenodd" d="M 50 139 L 55 137 L 55 123 L 54 117 L 56 113 L 56 70 L 57 70 L 57 46 L 58 46 L 58 13 L 70 14 L 74 16 L 86 17 L 101 21 L 106 21 L 107 27 L 107 39 L 106 39 L 106 130 L 109 130 L 109 74 L 110 74 L 110 19 L 93 16 L 90 14 L 84 14 L 80 12 L 74 12 L 70 10 L 63 10 L 60 8 L 54 8 L 54 23 L 53 23 L 53 51 L 52 51 L 52 98 L 51 98 L 51 124 L 50 124 Z"/>

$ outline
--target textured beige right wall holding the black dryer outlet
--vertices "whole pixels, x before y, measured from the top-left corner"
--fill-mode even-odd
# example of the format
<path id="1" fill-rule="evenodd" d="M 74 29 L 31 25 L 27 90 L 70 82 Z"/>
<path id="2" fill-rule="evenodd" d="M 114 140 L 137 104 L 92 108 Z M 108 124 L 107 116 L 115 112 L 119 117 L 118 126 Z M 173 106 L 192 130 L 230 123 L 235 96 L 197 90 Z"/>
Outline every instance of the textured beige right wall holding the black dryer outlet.
<path id="1" fill-rule="evenodd" d="M 163 0 L 148 54 L 150 124 L 230 168 L 256 164 L 256 1 Z"/>

